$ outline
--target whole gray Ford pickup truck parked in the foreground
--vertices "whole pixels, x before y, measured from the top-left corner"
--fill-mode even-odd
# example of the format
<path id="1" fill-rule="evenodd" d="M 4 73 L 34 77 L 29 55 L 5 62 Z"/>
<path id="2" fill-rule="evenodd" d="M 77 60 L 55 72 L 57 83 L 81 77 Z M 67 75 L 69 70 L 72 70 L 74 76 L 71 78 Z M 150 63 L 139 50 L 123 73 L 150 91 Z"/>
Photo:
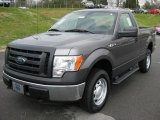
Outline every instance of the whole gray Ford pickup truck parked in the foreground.
<path id="1" fill-rule="evenodd" d="M 4 83 L 27 96 L 80 101 L 89 112 L 106 103 L 110 85 L 149 71 L 155 31 L 123 9 L 74 11 L 48 32 L 8 44 Z"/>

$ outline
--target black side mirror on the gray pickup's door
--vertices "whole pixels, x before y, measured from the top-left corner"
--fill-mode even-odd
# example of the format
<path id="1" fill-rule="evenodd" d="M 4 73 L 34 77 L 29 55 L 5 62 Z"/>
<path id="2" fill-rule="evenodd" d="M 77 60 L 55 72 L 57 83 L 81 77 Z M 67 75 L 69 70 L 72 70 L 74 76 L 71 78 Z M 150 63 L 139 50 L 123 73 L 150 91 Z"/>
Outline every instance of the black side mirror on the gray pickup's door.
<path id="1" fill-rule="evenodd" d="M 123 31 L 118 32 L 118 37 L 137 37 L 138 29 L 136 27 L 125 28 Z"/>

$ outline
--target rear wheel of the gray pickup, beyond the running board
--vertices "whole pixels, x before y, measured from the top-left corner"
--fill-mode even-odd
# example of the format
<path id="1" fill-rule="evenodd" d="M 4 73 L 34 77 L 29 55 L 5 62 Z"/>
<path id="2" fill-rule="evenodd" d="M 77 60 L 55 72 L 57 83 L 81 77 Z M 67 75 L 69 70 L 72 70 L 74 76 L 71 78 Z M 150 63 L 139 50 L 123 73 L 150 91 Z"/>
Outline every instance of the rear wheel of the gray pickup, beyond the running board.
<path id="1" fill-rule="evenodd" d="M 140 72 L 146 73 L 149 71 L 151 66 L 151 50 L 147 49 L 147 54 L 145 59 L 138 63 Z"/>

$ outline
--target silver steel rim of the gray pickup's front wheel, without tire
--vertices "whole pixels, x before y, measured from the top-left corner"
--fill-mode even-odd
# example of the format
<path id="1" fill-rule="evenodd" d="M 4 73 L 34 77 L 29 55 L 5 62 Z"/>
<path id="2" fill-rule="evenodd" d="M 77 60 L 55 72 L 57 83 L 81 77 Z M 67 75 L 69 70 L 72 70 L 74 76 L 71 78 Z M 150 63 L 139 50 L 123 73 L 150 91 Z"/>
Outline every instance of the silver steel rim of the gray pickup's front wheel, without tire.
<path id="1" fill-rule="evenodd" d="M 100 78 L 95 86 L 93 91 L 93 101 L 96 105 L 101 105 L 107 95 L 107 82 L 104 78 Z"/>

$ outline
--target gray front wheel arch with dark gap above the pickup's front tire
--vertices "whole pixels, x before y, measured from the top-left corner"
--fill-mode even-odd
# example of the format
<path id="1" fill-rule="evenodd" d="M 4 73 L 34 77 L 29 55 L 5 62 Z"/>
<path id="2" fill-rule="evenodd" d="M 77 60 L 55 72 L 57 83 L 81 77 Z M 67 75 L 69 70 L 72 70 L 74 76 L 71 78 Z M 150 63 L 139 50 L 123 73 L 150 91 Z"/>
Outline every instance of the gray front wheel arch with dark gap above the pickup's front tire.
<path id="1" fill-rule="evenodd" d="M 106 49 L 95 50 L 87 57 L 87 59 L 81 66 L 81 69 L 87 69 L 84 80 L 87 81 L 87 77 L 94 68 L 105 70 L 109 74 L 110 79 L 112 79 L 113 75 L 112 69 L 114 63 L 115 63 L 114 57 L 108 50 Z"/>

